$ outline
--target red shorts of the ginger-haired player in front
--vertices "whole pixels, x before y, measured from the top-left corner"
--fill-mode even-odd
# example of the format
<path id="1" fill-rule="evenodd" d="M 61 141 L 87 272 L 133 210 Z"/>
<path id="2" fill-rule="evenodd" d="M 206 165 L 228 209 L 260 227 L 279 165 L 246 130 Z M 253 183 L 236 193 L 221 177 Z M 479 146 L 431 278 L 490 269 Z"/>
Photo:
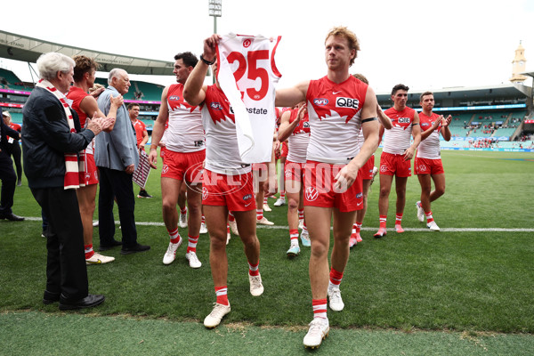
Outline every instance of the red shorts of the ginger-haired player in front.
<path id="1" fill-rule="evenodd" d="M 360 174 L 347 189 L 335 189 L 334 178 L 345 165 L 330 165 L 314 161 L 304 167 L 304 206 L 336 207 L 340 212 L 363 208 L 362 179 Z"/>

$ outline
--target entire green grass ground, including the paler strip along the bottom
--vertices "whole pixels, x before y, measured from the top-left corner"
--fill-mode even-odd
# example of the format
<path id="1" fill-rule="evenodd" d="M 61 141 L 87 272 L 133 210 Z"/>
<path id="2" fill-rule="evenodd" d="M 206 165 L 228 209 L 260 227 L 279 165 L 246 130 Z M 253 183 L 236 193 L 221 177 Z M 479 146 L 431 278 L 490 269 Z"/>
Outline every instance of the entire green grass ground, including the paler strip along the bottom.
<path id="1" fill-rule="evenodd" d="M 414 176 L 403 219 L 407 231 L 393 232 L 393 192 L 389 233 L 373 239 L 378 184 L 373 185 L 364 240 L 352 249 L 341 285 L 345 309 L 328 312 L 334 329 L 320 353 L 534 354 L 534 155 L 443 151 L 442 156 L 447 191 L 433 204 L 440 232 L 417 221 L 420 190 Z M 227 250 L 232 312 L 223 328 L 205 330 L 201 321 L 214 303 L 208 238 L 202 235 L 198 242 L 199 270 L 190 269 L 185 247 L 173 264 L 161 263 L 168 237 L 158 172 L 152 172 L 147 185 L 154 198 L 136 199 L 135 209 L 139 241 L 152 248 L 125 256 L 112 250 L 116 262 L 88 266 L 90 291 L 107 300 L 76 313 L 41 303 L 46 249 L 39 206 L 23 183 L 13 212 L 34 219 L 0 222 L 0 344 L 10 346 L 0 346 L 0 354 L 86 354 L 89 346 L 84 345 L 93 339 L 109 345 L 109 350 L 96 349 L 102 354 L 202 354 L 213 352 L 213 344 L 221 345 L 220 354 L 303 352 L 302 337 L 312 320 L 310 250 L 287 259 L 286 206 L 272 207 L 270 199 L 273 211 L 265 215 L 275 226 L 258 229 L 264 294 L 249 294 L 247 260 L 239 238 L 232 237 Z M 98 246 L 98 229 L 94 240 Z M 140 325 L 145 327 L 137 330 Z M 85 336 L 81 344 L 76 344 L 76 333 L 60 341 L 53 332 L 70 328 Z M 118 332 L 123 328 L 124 333 Z M 130 329 L 140 335 L 137 341 L 130 340 Z M 174 338 L 169 339 L 169 332 Z M 183 344 L 190 337 L 198 352 Z M 158 348 L 161 344 L 166 348 Z"/>

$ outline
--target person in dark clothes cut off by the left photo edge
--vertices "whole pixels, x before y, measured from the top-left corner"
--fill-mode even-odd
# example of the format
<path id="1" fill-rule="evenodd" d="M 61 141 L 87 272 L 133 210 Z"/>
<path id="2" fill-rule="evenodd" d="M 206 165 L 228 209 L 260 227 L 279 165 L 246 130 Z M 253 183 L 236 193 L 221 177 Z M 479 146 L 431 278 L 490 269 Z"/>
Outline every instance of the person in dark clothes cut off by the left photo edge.
<path id="1" fill-rule="evenodd" d="M 2 109 L 0 108 L 0 117 L 2 116 Z M 17 175 L 13 169 L 13 162 L 8 152 L 7 137 L 10 136 L 15 140 L 20 140 L 20 134 L 4 124 L 4 120 L 0 120 L 0 180 L 2 180 L 2 198 L 0 199 L 0 220 L 11 220 L 12 222 L 20 222 L 24 220 L 23 217 L 13 214 L 13 196 L 15 195 L 15 185 L 17 183 Z M 17 144 L 19 144 L 17 142 Z"/>

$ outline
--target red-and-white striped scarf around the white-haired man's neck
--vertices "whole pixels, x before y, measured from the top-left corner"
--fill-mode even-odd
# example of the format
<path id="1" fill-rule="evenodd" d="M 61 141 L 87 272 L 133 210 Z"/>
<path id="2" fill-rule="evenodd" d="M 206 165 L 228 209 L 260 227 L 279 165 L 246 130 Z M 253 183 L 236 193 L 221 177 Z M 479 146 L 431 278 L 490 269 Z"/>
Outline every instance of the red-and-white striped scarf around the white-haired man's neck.
<path id="1" fill-rule="evenodd" d="M 67 101 L 65 100 L 65 95 L 63 95 L 59 90 L 53 86 L 48 80 L 41 79 L 37 83 L 38 87 L 47 90 L 50 93 L 61 101 L 61 105 L 65 110 L 65 115 L 67 115 L 67 121 L 69 123 L 69 129 L 71 134 L 76 134 L 76 128 L 74 126 L 74 119 L 70 112 L 70 107 Z M 79 155 L 79 159 L 78 159 Z M 64 188 L 68 189 L 77 189 L 80 187 L 85 187 L 85 150 L 81 150 L 78 153 L 76 152 L 65 152 L 65 181 L 63 183 Z"/>

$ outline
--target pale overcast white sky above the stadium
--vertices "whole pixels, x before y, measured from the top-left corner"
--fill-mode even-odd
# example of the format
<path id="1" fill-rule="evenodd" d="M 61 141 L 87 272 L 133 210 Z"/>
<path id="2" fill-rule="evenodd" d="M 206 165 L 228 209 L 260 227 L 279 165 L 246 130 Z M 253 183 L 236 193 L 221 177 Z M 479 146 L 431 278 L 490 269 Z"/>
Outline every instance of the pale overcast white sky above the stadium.
<path id="1" fill-rule="evenodd" d="M 208 0 L 5 3 L 5 31 L 164 61 L 183 51 L 200 54 L 214 30 Z M 284 87 L 324 76 L 325 35 L 347 26 L 361 46 L 351 72 L 366 75 L 377 92 L 388 92 L 397 83 L 416 90 L 507 83 L 520 41 L 532 71 L 532 20 L 532 0 L 223 0 L 217 32 L 282 36 L 276 61 Z M 0 61 L 29 80 L 26 64 Z"/>

